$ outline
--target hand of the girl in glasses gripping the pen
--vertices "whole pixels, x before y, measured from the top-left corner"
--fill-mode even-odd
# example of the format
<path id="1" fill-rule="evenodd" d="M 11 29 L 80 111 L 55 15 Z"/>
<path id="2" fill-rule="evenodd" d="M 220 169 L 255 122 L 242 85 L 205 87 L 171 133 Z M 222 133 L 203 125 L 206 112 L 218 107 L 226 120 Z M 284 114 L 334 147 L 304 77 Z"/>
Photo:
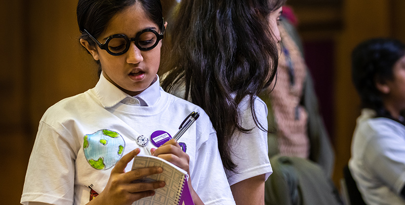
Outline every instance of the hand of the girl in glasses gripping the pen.
<path id="1" fill-rule="evenodd" d="M 188 154 L 183 152 L 183 150 L 181 150 L 181 147 L 176 140 L 172 139 L 157 149 L 152 148 L 150 150 L 150 153 L 152 154 L 152 156 L 165 159 L 166 161 L 175 164 L 176 166 L 185 170 L 188 173 L 188 175 L 190 175 L 189 173 L 190 157 L 188 156 Z"/>

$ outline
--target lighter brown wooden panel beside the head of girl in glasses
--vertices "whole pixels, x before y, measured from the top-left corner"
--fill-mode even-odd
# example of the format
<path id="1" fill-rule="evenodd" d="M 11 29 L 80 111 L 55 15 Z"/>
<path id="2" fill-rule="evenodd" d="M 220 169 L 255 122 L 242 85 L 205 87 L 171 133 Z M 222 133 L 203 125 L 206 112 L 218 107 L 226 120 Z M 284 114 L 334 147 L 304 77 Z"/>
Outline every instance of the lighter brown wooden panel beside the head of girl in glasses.
<path id="1" fill-rule="evenodd" d="M 76 1 L 38 0 L 30 12 L 31 124 L 57 101 L 97 80 L 93 58 L 79 45 Z"/>

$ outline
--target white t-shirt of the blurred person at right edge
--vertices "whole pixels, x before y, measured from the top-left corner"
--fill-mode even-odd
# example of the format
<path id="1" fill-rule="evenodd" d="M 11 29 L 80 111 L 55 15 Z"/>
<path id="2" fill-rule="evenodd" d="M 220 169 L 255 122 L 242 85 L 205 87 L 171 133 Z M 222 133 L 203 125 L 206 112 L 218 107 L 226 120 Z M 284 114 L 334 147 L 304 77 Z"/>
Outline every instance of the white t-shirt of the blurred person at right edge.
<path id="1" fill-rule="evenodd" d="M 363 109 L 357 118 L 350 172 L 367 204 L 405 204 L 399 196 L 405 185 L 405 126 L 374 116 Z"/>

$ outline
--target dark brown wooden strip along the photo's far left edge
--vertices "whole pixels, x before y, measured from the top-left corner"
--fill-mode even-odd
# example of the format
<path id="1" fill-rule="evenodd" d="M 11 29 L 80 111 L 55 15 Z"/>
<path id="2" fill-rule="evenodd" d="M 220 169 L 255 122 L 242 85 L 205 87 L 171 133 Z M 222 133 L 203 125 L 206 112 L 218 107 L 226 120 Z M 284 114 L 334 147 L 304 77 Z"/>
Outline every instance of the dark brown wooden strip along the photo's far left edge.
<path id="1" fill-rule="evenodd" d="M 29 119 L 26 95 L 29 41 L 26 41 L 26 13 L 23 0 L 0 3 L 0 198 L 2 204 L 19 204 L 31 144 L 27 138 Z"/>

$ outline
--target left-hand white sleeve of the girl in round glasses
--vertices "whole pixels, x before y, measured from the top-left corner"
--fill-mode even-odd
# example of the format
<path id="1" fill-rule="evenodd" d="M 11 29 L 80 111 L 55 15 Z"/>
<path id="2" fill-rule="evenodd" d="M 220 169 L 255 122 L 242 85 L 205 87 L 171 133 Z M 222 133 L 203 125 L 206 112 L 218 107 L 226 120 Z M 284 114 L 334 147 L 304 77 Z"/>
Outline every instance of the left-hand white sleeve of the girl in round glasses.
<path id="1" fill-rule="evenodd" d="M 22 204 L 73 204 L 76 155 L 68 141 L 40 122 L 28 162 Z"/>

